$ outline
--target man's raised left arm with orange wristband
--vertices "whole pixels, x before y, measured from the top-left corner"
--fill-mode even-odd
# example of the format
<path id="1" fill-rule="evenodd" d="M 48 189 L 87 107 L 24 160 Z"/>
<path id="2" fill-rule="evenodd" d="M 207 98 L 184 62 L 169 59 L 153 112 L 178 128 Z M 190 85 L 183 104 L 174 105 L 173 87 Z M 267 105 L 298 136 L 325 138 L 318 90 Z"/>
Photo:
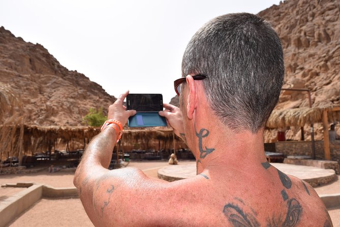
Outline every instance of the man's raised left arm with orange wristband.
<path id="1" fill-rule="evenodd" d="M 77 187 L 80 200 L 86 210 L 87 215 L 95 225 L 99 225 L 98 215 L 95 213 L 94 187 L 100 184 L 100 179 L 105 178 L 109 173 L 107 169 L 112 151 L 122 132 L 128 118 L 136 114 L 135 110 L 126 110 L 123 106 L 123 100 L 129 94 L 129 91 L 119 96 L 119 98 L 109 106 L 108 119 L 111 121 L 106 127 L 102 128 L 94 139 L 91 140 L 86 148 L 81 162 L 79 163 L 73 183 Z"/>

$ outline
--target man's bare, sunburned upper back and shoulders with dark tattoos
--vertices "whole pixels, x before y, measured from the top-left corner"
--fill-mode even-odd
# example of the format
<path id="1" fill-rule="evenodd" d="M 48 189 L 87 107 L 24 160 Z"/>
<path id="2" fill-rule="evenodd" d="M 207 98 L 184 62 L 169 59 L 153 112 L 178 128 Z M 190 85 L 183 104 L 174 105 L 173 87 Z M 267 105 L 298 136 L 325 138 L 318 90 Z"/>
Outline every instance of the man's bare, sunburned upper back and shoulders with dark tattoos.
<path id="1" fill-rule="evenodd" d="M 261 177 L 205 171 L 168 183 L 121 169 L 97 182 L 94 206 L 100 226 L 331 226 L 310 185 L 269 163 L 253 171 Z M 130 183 L 112 186 L 110 179 L 120 174 Z"/>

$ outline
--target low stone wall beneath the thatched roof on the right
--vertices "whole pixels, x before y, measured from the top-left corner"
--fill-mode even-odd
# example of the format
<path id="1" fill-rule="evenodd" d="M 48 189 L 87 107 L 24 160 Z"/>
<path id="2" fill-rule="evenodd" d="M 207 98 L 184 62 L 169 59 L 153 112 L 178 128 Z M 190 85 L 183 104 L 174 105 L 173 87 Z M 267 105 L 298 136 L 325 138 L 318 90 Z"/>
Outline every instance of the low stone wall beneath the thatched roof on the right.
<path id="1" fill-rule="evenodd" d="M 332 161 L 340 164 L 340 140 L 330 141 L 330 157 Z M 312 155 L 311 141 L 282 141 L 275 143 L 276 152 L 289 155 Z M 315 157 L 316 159 L 325 159 L 323 140 L 315 141 Z"/>

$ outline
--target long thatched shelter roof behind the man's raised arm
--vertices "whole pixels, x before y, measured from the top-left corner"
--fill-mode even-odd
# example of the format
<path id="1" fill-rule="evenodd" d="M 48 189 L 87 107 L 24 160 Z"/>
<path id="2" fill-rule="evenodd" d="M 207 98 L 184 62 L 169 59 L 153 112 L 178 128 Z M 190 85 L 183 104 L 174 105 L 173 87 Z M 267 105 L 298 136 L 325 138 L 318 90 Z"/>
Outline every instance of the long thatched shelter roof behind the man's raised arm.
<path id="1" fill-rule="evenodd" d="M 20 124 L 0 126 L 0 157 L 32 155 L 37 152 L 51 151 L 58 145 L 77 144 L 85 147 L 88 141 L 100 132 L 99 127 L 86 126 L 49 126 L 39 127 Z M 124 130 L 120 148 L 131 148 L 139 144 L 142 148 L 170 148 L 180 139 L 170 128 Z M 155 145 L 156 144 L 156 145 Z M 162 146 L 161 146 L 162 144 Z M 180 146 L 181 144 L 178 144 Z M 68 147 L 67 147 L 68 149 Z M 72 148 L 70 149 L 72 150 Z"/>

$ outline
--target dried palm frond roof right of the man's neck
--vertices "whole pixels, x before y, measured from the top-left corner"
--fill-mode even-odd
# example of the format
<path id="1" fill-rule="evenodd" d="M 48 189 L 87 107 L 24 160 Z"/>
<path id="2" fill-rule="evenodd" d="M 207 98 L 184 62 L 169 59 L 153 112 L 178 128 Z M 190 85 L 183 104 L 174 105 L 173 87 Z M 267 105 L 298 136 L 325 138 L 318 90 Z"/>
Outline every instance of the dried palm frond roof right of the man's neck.
<path id="1" fill-rule="evenodd" d="M 272 111 L 266 126 L 268 128 L 303 127 L 306 124 L 322 122 L 324 109 L 328 110 L 329 123 L 340 121 L 340 111 L 331 111 L 333 108 L 334 106 L 275 109 Z"/>

